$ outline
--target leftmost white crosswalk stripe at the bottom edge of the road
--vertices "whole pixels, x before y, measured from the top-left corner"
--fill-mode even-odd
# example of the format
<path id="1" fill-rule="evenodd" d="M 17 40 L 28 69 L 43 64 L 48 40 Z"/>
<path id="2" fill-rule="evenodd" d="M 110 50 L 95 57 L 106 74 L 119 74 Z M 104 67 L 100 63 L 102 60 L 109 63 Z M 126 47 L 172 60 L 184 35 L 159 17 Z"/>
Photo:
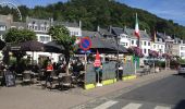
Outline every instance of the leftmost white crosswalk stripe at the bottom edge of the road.
<path id="1" fill-rule="evenodd" d="M 113 106 L 114 104 L 116 104 L 118 101 L 114 101 L 114 100 L 109 100 L 94 109 L 108 109 L 109 107 Z"/>

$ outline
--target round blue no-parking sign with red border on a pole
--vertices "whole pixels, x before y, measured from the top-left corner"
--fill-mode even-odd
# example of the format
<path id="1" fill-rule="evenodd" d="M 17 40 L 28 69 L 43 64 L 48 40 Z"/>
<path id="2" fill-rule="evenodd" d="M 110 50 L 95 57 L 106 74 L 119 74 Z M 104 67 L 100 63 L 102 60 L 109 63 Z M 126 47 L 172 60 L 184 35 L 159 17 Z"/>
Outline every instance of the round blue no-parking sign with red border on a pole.
<path id="1" fill-rule="evenodd" d="M 89 50 L 91 47 L 91 40 L 89 37 L 84 37 L 81 40 L 79 48 L 83 49 L 84 51 Z"/>

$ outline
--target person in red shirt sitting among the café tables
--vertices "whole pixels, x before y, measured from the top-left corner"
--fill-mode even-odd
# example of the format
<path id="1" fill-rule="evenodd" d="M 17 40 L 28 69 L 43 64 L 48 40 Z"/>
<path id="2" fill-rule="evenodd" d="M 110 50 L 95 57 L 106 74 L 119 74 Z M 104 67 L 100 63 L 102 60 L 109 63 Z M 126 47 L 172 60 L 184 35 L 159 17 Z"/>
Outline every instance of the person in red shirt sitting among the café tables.
<path id="1" fill-rule="evenodd" d="M 48 62 L 48 65 L 46 68 L 46 72 L 45 72 L 45 75 L 46 75 L 46 83 L 45 83 L 45 87 L 47 87 L 47 83 L 49 82 L 50 83 L 50 87 L 52 87 L 52 80 L 51 80 L 51 72 L 53 71 L 53 66 L 52 66 L 52 63 L 51 61 Z"/>

